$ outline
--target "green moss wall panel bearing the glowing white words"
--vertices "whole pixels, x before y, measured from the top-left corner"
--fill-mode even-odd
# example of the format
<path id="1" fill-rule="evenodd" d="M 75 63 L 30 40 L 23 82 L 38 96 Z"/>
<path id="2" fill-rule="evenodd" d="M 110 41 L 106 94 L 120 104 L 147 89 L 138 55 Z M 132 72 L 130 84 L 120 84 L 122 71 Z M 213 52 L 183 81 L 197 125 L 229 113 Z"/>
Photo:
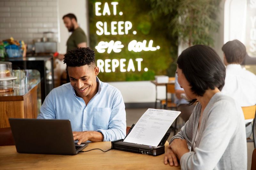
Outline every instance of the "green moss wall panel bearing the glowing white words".
<path id="1" fill-rule="evenodd" d="M 173 62 L 163 18 L 147 1 L 89 0 L 90 47 L 102 81 L 152 80 Z"/>

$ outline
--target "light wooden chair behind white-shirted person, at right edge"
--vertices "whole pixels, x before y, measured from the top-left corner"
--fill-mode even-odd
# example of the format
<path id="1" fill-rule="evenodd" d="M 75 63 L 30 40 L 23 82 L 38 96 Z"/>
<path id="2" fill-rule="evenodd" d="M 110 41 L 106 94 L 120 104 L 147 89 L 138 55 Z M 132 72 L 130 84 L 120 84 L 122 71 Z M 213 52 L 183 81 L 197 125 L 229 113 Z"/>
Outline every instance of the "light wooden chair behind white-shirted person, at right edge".
<path id="1" fill-rule="evenodd" d="M 242 107 L 242 110 L 243 110 L 243 112 L 244 112 L 244 119 L 253 119 L 253 124 L 252 124 L 252 139 L 247 139 L 247 142 L 253 142 L 254 148 L 256 148 L 256 135 L 255 135 L 256 105 L 254 105 L 254 106 L 248 106 L 248 107 Z"/>

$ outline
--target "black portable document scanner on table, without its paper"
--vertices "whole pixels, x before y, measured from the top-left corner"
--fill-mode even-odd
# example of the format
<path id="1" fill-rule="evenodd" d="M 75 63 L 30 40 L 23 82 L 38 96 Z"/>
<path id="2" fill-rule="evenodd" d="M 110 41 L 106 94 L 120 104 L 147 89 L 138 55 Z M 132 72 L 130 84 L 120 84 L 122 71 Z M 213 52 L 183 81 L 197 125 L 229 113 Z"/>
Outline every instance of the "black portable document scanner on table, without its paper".
<path id="1" fill-rule="evenodd" d="M 132 127 L 129 130 L 128 134 L 132 131 L 132 128 L 134 127 L 134 125 L 135 124 L 132 124 Z M 165 144 L 166 140 L 169 138 L 171 131 L 172 131 L 172 126 L 170 126 L 170 128 L 168 129 L 168 131 L 165 133 L 164 137 L 162 138 L 161 142 L 156 147 L 149 146 L 149 145 L 124 142 L 124 139 L 119 139 L 119 140 L 115 140 L 115 141 L 111 142 L 111 149 L 146 154 L 146 155 L 153 155 L 153 156 L 161 155 L 164 153 L 164 144 Z M 128 134 L 126 134 L 126 137 Z"/>

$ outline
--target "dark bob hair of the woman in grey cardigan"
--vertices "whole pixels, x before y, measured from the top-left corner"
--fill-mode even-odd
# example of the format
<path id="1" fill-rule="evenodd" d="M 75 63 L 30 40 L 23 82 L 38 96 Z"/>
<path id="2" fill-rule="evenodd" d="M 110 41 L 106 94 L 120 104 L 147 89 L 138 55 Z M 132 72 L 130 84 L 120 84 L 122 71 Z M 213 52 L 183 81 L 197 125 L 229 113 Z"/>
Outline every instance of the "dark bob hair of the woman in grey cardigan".
<path id="1" fill-rule="evenodd" d="M 191 91 L 203 96 L 205 90 L 217 87 L 221 90 L 225 84 L 226 68 L 219 55 L 209 46 L 195 45 L 184 50 L 177 60 L 178 67 L 188 80 Z M 196 99 L 189 101 L 189 105 Z"/>

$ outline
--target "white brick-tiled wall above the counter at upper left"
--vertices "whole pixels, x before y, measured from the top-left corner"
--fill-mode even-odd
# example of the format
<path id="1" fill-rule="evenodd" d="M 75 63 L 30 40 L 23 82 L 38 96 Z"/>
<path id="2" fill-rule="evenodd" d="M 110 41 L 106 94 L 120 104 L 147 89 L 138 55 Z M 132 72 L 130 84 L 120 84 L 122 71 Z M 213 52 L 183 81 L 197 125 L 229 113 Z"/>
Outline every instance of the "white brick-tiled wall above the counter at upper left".
<path id="1" fill-rule="evenodd" d="M 57 0 L 0 0 L 0 40 L 13 37 L 32 43 L 43 32 L 58 40 Z"/>

